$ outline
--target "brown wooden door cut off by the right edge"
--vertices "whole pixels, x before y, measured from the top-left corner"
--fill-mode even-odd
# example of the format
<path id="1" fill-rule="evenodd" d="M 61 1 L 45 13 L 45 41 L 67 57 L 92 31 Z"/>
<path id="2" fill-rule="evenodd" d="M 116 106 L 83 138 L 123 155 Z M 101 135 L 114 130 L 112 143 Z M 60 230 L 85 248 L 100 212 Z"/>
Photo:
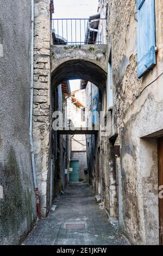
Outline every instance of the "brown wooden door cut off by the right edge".
<path id="1" fill-rule="evenodd" d="M 159 138 L 159 186 L 163 185 L 163 137 Z M 162 188 L 161 188 L 162 190 Z M 163 245 L 163 198 L 159 197 L 159 227 L 160 227 L 160 245 Z"/>

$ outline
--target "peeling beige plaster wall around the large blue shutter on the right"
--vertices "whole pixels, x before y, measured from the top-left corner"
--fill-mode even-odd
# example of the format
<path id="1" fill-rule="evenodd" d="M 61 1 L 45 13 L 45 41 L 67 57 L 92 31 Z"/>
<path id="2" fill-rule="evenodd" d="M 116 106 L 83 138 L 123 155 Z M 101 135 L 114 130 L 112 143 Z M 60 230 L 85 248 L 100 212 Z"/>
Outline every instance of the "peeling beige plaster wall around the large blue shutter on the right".
<path id="1" fill-rule="evenodd" d="M 135 0 L 110 0 L 108 34 L 113 51 L 114 110 L 121 147 L 123 229 L 130 241 L 159 243 L 157 141 L 145 137 L 163 127 L 163 78 L 145 89 L 163 70 L 163 3 L 156 3 L 157 65 L 143 78 L 137 78 L 137 22 Z M 127 109 L 128 111 L 123 114 Z"/>

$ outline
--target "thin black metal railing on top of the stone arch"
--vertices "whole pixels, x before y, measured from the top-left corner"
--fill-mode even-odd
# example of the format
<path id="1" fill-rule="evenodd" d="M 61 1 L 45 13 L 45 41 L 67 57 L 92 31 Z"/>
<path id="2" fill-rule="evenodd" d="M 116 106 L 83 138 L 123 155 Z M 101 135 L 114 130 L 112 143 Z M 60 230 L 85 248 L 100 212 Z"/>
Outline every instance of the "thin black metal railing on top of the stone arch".
<path id="1" fill-rule="evenodd" d="M 54 45 L 104 44 L 105 19 L 52 19 Z"/>

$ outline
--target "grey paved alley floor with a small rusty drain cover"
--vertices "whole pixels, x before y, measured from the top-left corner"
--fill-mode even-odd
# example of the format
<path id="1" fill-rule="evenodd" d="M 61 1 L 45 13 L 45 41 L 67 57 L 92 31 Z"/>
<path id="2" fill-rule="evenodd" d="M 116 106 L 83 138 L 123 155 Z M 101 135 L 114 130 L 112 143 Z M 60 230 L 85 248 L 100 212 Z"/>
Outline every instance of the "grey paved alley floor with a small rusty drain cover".
<path id="1" fill-rule="evenodd" d="M 57 208 L 37 222 L 25 245 L 128 245 L 112 225 L 105 210 L 99 209 L 91 187 L 84 183 L 67 185 Z"/>

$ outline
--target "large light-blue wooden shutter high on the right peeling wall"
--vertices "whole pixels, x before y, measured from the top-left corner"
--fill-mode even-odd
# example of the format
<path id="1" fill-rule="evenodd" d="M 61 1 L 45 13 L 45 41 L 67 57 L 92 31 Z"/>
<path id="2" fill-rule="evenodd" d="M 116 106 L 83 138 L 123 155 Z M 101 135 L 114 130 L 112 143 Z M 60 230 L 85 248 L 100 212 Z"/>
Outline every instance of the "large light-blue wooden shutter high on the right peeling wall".
<path id="1" fill-rule="evenodd" d="M 155 0 L 137 0 L 137 76 L 156 64 Z"/>

